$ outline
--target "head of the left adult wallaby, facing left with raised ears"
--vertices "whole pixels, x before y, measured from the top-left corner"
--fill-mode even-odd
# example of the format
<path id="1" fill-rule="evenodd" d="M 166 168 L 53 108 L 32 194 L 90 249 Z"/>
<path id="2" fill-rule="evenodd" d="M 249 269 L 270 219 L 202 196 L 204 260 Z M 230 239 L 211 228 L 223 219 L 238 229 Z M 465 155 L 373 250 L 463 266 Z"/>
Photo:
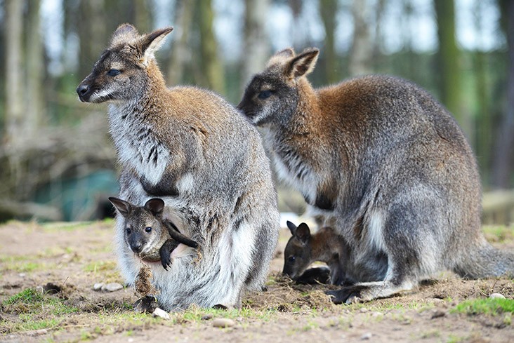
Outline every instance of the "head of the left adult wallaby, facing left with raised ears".
<path id="1" fill-rule="evenodd" d="M 142 96 L 152 77 L 162 79 L 154 53 L 172 30 L 166 27 L 140 35 L 132 25 L 120 25 L 91 74 L 77 87 L 79 99 L 98 103 Z"/>

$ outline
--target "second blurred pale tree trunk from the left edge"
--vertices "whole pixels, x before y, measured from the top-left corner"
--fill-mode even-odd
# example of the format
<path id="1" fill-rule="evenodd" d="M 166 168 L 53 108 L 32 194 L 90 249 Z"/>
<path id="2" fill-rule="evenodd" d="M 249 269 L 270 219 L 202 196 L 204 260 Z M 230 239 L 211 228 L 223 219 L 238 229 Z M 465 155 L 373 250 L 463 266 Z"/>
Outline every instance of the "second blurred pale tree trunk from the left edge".
<path id="1" fill-rule="evenodd" d="M 41 0 L 29 0 L 27 22 L 27 113 L 24 132 L 34 133 L 44 121 L 43 79 L 44 55 L 39 13 Z"/>

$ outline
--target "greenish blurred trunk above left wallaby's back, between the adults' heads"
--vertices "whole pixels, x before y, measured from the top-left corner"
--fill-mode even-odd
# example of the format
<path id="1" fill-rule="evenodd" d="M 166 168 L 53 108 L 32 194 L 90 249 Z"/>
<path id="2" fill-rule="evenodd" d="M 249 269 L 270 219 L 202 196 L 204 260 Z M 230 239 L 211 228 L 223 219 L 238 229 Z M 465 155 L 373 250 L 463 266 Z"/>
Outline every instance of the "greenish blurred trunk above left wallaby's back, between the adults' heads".
<path id="1" fill-rule="evenodd" d="M 225 72 L 218 57 L 218 42 L 214 36 L 214 11 L 211 0 L 199 0 L 199 15 L 200 53 L 205 86 L 225 95 Z"/>

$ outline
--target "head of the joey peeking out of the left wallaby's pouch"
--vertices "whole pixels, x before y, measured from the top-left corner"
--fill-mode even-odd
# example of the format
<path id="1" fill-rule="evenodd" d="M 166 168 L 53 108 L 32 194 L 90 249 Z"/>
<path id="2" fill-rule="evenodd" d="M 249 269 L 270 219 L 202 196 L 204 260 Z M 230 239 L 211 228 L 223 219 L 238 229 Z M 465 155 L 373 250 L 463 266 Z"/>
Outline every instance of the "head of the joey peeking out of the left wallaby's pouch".
<path id="1" fill-rule="evenodd" d="M 125 241 L 134 253 L 145 255 L 156 246 L 160 248 L 159 242 L 167 231 L 159 221 L 164 210 L 162 199 L 150 199 L 143 207 L 114 197 L 109 201 L 125 219 Z"/>

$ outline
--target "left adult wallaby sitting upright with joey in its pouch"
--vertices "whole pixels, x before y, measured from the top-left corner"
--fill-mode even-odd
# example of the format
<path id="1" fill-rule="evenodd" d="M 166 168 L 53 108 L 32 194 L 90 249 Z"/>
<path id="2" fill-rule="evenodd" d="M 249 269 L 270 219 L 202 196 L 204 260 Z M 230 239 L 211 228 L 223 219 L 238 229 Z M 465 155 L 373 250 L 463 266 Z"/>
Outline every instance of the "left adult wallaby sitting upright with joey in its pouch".
<path id="1" fill-rule="evenodd" d="M 119 197 L 138 206 L 162 198 L 173 210 L 170 221 L 199 244 L 201 258 L 186 251 L 168 271 L 152 266 L 160 307 L 239 306 L 244 290 L 262 288 L 277 244 L 270 163 L 256 128 L 223 98 L 166 87 L 154 53 L 171 30 L 140 35 L 119 26 L 77 93 L 83 102 L 110 103 Z M 118 218 L 116 252 L 133 283 L 142 266 L 123 223 Z"/>

